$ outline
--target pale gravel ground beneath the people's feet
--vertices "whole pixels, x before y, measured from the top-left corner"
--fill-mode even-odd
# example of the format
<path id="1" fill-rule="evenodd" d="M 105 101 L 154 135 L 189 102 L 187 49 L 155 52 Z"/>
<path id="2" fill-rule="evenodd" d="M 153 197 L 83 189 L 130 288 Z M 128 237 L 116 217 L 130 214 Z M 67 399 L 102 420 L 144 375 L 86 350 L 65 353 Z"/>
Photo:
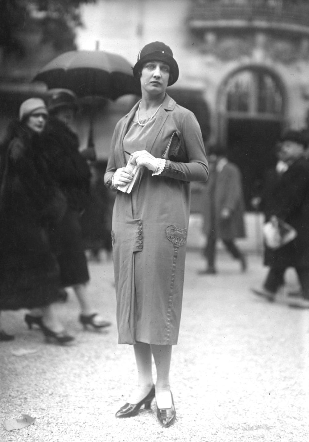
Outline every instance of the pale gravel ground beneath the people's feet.
<path id="1" fill-rule="evenodd" d="M 117 344 L 112 263 L 90 263 L 91 296 L 113 325 L 84 332 L 72 292 L 61 306 L 74 345 L 43 342 L 27 331 L 25 311 L 4 312 L 12 343 L 1 343 L 1 442 L 307 442 L 309 437 L 309 310 L 256 299 L 266 269 L 256 255 L 249 269 L 224 252 L 219 273 L 197 276 L 204 263 L 187 253 L 179 344 L 173 348 L 171 381 L 177 420 L 160 427 L 151 411 L 115 419 L 136 382 L 132 347 Z M 296 280 L 288 273 L 292 287 Z M 16 356 L 12 351 L 33 350 Z M 154 371 L 155 373 L 155 371 Z M 35 417 L 26 428 L 6 431 L 5 419 Z"/>

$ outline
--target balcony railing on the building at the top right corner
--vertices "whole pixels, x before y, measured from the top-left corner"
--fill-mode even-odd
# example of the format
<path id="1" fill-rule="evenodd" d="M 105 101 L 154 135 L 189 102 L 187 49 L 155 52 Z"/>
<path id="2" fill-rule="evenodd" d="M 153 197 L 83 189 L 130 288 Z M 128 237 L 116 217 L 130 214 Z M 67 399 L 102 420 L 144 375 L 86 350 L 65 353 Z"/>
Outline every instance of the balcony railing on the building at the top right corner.
<path id="1" fill-rule="evenodd" d="M 309 27 L 309 1 L 303 5 L 282 5 L 259 6 L 258 4 L 224 4 L 214 5 L 214 2 L 199 1 L 192 5 L 188 17 L 191 29 L 214 27 L 214 22 L 230 21 L 235 25 L 240 22 L 248 25 L 250 22 L 268 23 L 275 25 L 296 25 L 298 27 Z M 220 26 L 220 23 L 218 23 Z M 292 29 L 292 28 L 291 28 Z M 299 29 L 300 30 L 300 29 Z"/>

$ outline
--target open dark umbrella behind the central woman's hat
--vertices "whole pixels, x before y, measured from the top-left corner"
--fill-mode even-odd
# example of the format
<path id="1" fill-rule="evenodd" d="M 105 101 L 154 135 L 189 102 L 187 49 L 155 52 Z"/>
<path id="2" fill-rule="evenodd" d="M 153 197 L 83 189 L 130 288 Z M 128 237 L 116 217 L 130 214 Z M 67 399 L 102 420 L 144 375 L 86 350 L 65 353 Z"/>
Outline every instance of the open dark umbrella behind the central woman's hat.
<path id="1" fill-rule="evenodd" d="M 49 89 L 70 89 L 78 97 L 99 95 L 114 100 L 140 94 L 129 61 L 106 51 L 65 52 L 42 68 L 33 81 L 42 81 Z"/>

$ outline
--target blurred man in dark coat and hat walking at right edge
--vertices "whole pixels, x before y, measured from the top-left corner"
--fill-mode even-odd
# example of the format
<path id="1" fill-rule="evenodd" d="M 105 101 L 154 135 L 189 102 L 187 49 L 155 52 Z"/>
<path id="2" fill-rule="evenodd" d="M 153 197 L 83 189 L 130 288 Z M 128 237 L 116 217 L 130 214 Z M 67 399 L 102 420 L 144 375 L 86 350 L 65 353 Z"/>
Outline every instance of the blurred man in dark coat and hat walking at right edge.
<path id="1" fill-rule="evenodd" d="M 263 290 L 256 294 L 275 300 L 286 268 L 294 267 L 301 285 L 301 296 L 291 297 L 288 304 L 309 308 L 309 163 L 305 160 L 305 140 L 300 132 L 289 130 L 282 137 L 282 154 L 288 169 L 282 174 L 272 198 L 268 218 L 285 221 L 297 231 L 290 243 L 278 248 L 265 248 L 264 264 L 270 267 Z"/>

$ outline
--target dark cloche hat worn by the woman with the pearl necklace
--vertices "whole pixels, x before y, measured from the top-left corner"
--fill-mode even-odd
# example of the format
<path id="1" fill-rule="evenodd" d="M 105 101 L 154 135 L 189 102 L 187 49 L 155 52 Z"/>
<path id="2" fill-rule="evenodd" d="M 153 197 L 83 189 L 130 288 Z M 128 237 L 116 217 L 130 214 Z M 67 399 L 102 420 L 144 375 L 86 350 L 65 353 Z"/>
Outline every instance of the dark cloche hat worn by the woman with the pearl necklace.
<path id="1" fill-rule="evenodd" d="M 164 45 L 162 42 L 148 43 L 148 45 L 144 46 L 143 49 L 140 50 L 137 57 L 137 63 L 133 68 L 134 78 L 139 78 L 139 71 L 141 70 L 142 66 L 147 61 L 152 60 L 163 61 L 169 66 L 170 72 L 168 86 L 171 86 L 171 84 L 174 84 L 177 81 L 179 69 L 175 59 L 173 58 L 172 49 L 169 46 Z"/>

